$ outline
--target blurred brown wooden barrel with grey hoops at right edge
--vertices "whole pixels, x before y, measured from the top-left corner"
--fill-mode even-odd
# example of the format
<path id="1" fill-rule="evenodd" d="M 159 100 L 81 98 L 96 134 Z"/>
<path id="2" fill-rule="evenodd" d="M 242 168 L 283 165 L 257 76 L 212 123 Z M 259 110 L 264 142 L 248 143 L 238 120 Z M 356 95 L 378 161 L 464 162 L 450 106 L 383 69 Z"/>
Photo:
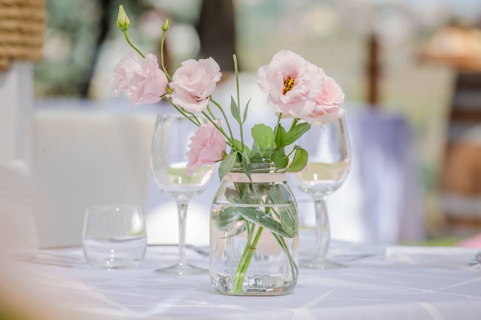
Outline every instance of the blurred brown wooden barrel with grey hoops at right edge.
<path id="1" fill-rule="evenodd" d="M 481 229 L 481 72 L 457 75 L 440 188 L 448 223 Z"/>

